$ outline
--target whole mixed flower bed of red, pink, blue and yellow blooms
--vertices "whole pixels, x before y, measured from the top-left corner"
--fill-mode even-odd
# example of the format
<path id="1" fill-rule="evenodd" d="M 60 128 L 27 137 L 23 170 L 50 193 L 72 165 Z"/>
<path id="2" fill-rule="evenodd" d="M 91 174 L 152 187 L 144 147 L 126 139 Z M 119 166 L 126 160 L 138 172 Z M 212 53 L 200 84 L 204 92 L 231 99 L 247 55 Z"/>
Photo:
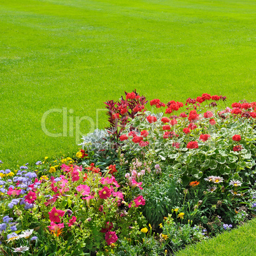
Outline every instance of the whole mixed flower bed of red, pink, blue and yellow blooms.
<path id="1" fill-rule="evenodd" d="M 146 104 L 125 92 L 72 158 L 0 171 L 3 255 L 166 255 L 254 216 L 256 103 Z"/>

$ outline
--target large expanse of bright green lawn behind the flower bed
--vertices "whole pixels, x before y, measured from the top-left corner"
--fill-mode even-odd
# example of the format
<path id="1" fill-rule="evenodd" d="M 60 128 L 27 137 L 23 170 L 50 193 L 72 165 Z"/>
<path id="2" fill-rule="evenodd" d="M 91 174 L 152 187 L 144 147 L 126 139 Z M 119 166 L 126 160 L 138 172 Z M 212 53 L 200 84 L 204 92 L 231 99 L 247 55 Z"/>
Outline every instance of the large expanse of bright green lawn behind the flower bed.
<path id="1" fill-rule="evenodd" d="M 83 133 L 103 128 L 96 109 L 124 90 L 255 100 L 255 10 L 253 0 L 0 0 L 2 167 L 76 151 L 76 118 L 93 120 Z M 41 128 L 53 108 L 73 117 L 64 136 Z M 62 113 L 46 118 L 49 132 L 62 126 Z"/>

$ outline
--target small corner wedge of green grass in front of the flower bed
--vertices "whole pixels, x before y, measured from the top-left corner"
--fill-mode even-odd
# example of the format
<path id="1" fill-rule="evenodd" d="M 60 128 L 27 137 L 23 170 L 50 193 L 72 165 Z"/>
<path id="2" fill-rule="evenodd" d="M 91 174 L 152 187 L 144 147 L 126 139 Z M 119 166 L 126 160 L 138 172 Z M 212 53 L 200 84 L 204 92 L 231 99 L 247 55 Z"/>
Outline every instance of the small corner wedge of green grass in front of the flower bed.
<path id="1" fill-rule="evenodd" d="M 256 219 L 238 229 L 219 234 L 216 238 L 188 246 L 176 256 L 254 256 L 256 241 Z"/>

